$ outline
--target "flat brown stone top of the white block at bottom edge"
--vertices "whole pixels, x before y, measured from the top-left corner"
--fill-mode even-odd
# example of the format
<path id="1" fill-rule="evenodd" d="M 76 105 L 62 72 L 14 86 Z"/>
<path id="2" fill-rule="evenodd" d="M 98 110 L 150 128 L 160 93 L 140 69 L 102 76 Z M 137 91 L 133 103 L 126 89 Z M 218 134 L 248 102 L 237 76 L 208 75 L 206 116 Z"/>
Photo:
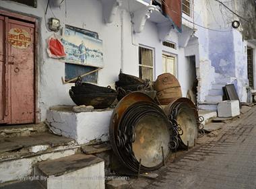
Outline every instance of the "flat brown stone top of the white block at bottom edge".
<path id="1" fill-rule="evenodd" d="M 60 176 L 102 161 L 102 159 L 94 155 L 75 154 L 59 159 L 42 161 L 37 163 L 36 166 L 44 176 Z"/>

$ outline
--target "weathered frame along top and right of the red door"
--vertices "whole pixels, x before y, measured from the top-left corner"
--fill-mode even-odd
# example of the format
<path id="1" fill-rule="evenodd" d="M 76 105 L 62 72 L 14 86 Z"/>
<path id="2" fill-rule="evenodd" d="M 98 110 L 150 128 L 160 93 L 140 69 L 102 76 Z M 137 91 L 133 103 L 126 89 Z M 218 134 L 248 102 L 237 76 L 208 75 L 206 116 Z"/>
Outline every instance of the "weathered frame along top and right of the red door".
<path id="1" fill-rule="evenodd" d="M 0 15 L 34 24 L 34 123 L 38 124 L 40 122 L 40 109 L 38 107 L 38 18 L 24 15 L 24 13 L 14 13 L 13 11 L 2 8 L 0 8 Z"/>

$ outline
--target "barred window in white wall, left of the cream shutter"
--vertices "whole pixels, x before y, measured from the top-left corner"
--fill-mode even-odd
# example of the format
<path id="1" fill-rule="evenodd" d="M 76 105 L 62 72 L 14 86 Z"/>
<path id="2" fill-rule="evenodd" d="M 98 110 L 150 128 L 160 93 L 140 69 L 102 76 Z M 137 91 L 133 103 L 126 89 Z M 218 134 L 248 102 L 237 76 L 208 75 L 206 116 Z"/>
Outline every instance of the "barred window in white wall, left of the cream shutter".
<path id="1" fill-rule="evenodd" d="M 139 78 L 154 79 L 154 59 L 153 50 L 139 46 Z"/>

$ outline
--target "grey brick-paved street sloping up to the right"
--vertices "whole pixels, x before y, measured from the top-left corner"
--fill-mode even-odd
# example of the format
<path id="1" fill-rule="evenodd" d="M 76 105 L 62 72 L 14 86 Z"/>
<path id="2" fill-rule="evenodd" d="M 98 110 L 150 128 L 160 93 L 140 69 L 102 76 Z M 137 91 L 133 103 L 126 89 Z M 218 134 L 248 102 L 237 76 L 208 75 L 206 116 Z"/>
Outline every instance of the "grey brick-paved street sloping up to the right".
<path id="1" fill-rule="evenodd" d="M 217 132 L 134 188 L 256 188 L 256 107 Z"/>

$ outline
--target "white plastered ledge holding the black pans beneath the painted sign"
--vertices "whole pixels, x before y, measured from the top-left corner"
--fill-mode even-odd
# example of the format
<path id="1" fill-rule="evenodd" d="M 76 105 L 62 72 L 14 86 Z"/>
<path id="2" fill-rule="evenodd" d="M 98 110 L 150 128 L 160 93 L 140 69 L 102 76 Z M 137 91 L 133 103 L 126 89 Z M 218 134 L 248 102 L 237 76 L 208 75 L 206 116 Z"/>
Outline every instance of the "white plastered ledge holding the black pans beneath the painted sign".
<path id="1" fill-rule="evenodd" d="M 73 112 L 72 106 L 55 106 L 47 111 L 46 122 L 53 133 L 75 139 L 79 145 L 108 141 L 113 109 Z"/>

